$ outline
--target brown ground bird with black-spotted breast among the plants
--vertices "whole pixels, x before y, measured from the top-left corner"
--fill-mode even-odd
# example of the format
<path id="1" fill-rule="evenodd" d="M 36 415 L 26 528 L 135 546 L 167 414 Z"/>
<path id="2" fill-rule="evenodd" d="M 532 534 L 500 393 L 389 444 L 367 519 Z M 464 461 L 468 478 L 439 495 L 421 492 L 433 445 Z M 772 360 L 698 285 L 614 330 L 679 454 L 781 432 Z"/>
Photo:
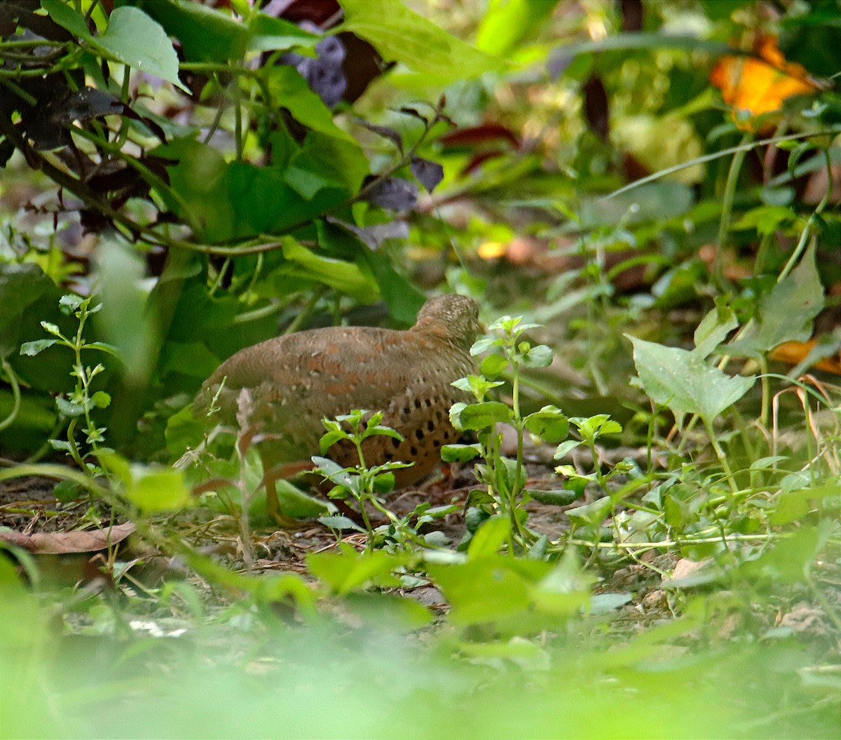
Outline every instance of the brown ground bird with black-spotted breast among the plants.
<path id="1" fill-rule="evenodd" d="M 386 461 L 414 462 L 394 471 L 397 487 L 420 481 L 441 461 L 440 450 L 456 440 L 449 421 L 454 402 L 466 394 L 450 384 L 473 372 L 469 349 L 479 331 L 479 306 L 463 295 L 426 301 L 414 327 L 394 331 L 375 327 L 328 327 L 268 339 L 225 360 L 196 397 L 206 412 L 223 378 L 215 423 L 233 425 L 237 397 L 251 391 L 262 439 L 257 449 L 266 471 L 267 503 L 277 518 L 274 481 L 281 464 L 308 461 L 319 454 L 325 433 L 322 418 L 354 408 L 383 411 L 383 424 L 403 442 L 386 436 L 365 441 L 368 466 Z M 357 462 L 350 446 L 333 445 L 327 456 L 342 466 Z M 275 469 L 277 474 L 270 475 Z"/>

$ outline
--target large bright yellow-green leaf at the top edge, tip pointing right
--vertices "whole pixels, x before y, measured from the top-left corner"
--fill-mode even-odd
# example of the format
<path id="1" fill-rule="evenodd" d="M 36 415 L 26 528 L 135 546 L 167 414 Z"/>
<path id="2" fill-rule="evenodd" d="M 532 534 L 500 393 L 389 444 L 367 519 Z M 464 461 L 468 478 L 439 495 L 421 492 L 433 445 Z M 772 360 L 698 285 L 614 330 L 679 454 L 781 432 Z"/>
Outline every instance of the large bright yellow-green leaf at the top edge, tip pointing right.
<path id="1" fill-rule="evenodd" d="M 383 59 L 402 61 L 415 72 L 436 77 L 436 83 L 503 72 L 508 64 L 478 51 L 436 24 L 406 8 L 399 0 L 341 0 L 344 31 L 373 44 Z"/>

